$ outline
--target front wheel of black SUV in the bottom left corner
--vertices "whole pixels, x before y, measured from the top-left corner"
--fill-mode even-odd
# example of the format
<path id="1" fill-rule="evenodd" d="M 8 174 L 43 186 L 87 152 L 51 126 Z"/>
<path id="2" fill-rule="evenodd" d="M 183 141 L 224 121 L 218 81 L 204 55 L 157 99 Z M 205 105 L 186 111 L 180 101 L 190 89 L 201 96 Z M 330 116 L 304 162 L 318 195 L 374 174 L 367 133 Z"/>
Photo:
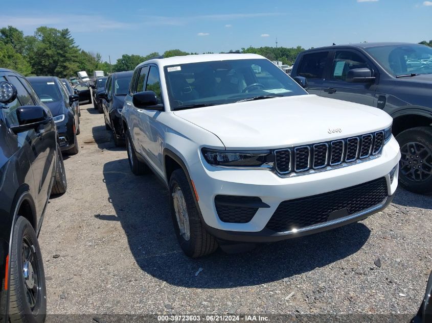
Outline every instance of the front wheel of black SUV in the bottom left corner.
<path id="1" fill-rule="evenodd" d="M 26 267 L 28 268 L 27 272 L 31 274 L 29 279 L 26 279 L 24 268 L 25 264 L 28 263 L 26 255 L 29 253 L 32 255 L 31 266 Z M 42 255 L 32 225 L 22 216 L 19 216 L 15 222 L 9 262 L 9 322 L 44 322 L 47 316 L 47 290 Z M 28 285 L 32 282 L 36 287 L 30 289 Z M 29 302 L 30 294 L 33 296 L 33 306 Z"/>

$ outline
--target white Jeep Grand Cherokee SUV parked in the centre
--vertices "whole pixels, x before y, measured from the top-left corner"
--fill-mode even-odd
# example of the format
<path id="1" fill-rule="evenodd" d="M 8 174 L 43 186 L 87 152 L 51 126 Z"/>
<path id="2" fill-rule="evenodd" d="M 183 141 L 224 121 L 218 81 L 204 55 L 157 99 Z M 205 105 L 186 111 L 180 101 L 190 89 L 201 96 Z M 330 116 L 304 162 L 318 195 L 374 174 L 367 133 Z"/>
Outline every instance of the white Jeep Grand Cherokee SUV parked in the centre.
<path id="1" fill-rule="evenodd" d="M 308 95 L 259 55 L 146 61 L 122 118 L 132 172 L 168 186 L 190 257 L 364 219 L 397 187 L 388 114 Z"/>

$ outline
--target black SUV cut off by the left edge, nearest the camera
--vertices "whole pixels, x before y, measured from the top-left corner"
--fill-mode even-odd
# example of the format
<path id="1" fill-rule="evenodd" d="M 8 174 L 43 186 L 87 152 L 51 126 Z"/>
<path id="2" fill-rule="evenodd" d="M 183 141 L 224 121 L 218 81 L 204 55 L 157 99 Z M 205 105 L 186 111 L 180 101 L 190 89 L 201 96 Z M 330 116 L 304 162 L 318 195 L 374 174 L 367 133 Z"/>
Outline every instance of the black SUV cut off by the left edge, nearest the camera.
<path id="1" fill-rule="evenodd" d="M 0 322 L 43 322 L 37 235 L 50 194 L 66 191 L 51 111 L 21 74 L 0 68 Z"/>

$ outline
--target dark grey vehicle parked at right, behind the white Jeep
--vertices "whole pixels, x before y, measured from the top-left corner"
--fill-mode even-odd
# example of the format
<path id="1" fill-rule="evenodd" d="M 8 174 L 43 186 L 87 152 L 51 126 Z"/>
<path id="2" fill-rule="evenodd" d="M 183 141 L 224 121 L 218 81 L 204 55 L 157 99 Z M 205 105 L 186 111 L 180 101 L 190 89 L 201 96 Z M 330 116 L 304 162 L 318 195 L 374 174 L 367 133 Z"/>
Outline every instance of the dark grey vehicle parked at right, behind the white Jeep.
<path id="1" fill-rule="evenodd" d="M 399 182 L 413 192 L 432 192 L 432 48 L 410 43 L 313 48 L 297 57 L 291 77 L 306 78 L 310 94 L 389 113 L 401 147 Z"/>

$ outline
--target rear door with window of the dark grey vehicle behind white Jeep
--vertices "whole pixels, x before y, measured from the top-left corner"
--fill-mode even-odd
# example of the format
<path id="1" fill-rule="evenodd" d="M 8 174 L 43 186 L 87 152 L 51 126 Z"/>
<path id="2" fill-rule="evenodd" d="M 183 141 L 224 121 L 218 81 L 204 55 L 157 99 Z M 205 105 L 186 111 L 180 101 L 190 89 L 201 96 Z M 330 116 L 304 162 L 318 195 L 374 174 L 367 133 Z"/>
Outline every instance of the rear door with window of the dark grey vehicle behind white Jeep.
<path id="1" fill-rule="evenodd" d="M 302 76 L 306 78 L 309 94 L 321 94 L 329 54 L 330 51 L 311 52 L 300 58 L 299 67 L 292 77 Z"/>

